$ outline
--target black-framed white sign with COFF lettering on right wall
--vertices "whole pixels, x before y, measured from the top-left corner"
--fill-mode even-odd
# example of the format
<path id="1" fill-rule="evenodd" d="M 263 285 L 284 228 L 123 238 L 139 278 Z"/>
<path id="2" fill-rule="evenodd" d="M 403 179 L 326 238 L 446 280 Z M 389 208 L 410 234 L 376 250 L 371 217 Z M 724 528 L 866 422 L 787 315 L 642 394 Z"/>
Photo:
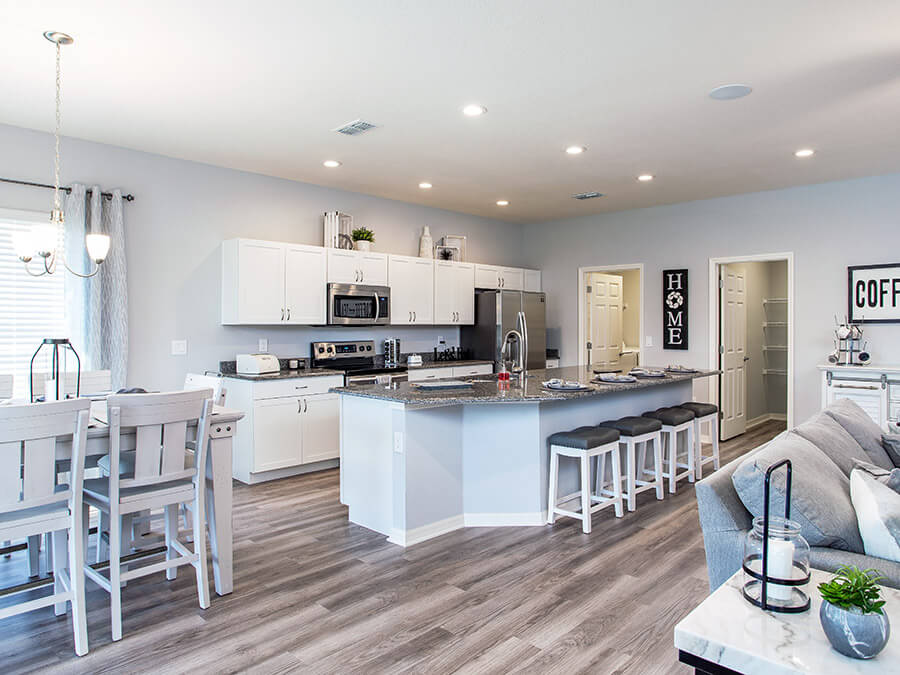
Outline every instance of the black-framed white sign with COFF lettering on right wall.
<path id="1" fill-rule="evenodd" d="M 851 322 L 900 323 L 900 263 L 847 268 Z"/>

